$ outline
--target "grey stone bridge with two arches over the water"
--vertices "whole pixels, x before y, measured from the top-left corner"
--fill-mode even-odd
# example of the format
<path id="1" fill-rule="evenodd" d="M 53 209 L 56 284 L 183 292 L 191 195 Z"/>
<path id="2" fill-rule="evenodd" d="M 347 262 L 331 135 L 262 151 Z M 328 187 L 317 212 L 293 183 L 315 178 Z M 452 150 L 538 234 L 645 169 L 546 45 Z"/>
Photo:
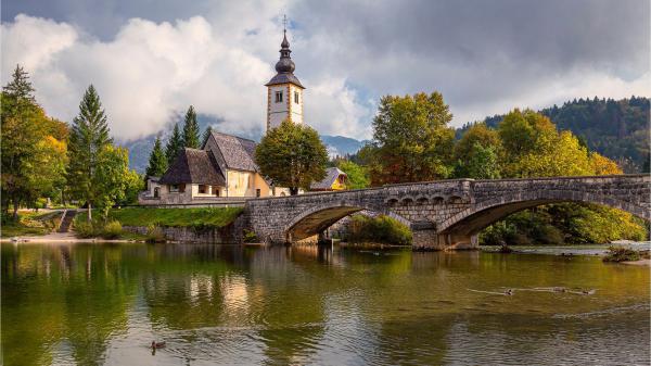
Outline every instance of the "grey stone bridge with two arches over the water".
<path id="1" fill-rule="evenodd" d="M 486 226 L 548 203 L 597 203 L 649 222 L 650 195 L 648 175 L 438 180 L 250 200 L 244 217 L 267 242 L 295 242 L 369 210 L 407 224 L 416 248 L 470 249 L 477 245 L 477 234 Z"/>

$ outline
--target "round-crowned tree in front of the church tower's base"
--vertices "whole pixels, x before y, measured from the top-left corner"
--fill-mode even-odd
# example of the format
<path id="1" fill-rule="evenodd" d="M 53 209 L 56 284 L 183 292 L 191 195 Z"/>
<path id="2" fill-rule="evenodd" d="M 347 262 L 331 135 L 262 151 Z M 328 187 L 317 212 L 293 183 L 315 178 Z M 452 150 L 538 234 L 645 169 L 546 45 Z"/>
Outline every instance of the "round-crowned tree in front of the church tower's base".
<path id="1" fill-rule="evenodd" d="M 328 151 L 314 128 L 283 121 L 270 129 L 255 150 L 261 174 L 277 187 L 289 187 L 292 195 L 326 177 Z"/>

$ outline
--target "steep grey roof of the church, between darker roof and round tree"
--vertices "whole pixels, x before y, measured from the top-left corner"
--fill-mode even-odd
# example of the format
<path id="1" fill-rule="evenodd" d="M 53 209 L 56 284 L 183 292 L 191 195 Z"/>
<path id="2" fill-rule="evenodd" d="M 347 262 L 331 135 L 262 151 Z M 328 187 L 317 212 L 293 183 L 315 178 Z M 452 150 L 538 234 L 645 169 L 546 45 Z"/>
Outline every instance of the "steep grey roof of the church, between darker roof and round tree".
<path id="1" fill-rule="evenodd" d="M 217 142 L 227 168 L 258 172 L 254 157 L 256 147 L 254 141 L 217 131 L 213 131 L 213 138 Z"/>

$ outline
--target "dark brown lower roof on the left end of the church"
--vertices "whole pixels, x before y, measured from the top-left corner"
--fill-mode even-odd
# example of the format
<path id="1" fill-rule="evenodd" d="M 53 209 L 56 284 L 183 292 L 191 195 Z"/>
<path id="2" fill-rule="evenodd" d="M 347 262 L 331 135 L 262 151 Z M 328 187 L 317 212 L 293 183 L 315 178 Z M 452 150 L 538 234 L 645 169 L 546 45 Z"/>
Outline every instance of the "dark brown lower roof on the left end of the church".
<path id="1" fill-rule="evenodd" d="M 226 186 L 210 151 L 186 148 L 158 180 L 163 185 L 201 184 Z"/>

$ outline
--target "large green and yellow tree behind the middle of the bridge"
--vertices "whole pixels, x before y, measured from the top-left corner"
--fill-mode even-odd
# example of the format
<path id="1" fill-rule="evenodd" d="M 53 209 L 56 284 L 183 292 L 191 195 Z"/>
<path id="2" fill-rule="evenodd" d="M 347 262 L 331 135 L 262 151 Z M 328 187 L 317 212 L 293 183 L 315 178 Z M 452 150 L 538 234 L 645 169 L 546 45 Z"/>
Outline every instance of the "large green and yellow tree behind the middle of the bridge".
<path id="1" fill-rule="evenodd" d="M 451 173 L 452 115 L 438 92 L 386 96 L 373 119 L 373 186 L 446 178 Z"/>

